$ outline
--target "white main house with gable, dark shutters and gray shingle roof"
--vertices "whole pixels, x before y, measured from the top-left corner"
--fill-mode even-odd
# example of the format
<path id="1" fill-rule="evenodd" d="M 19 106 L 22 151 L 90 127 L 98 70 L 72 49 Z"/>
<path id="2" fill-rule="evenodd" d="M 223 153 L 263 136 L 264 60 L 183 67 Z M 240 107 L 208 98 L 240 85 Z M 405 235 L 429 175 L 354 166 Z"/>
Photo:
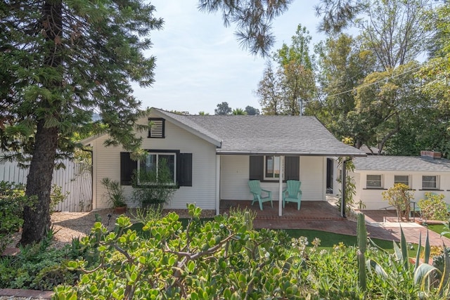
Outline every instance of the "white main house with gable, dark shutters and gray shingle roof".
<path id="1" fill-rule="evenodd" d="M 195 202 L 218 214 L 221 200 L 252 199 L 251 179 L 271 190 L 274 201 L 288 179 L 302 181 L 302 201 L 325 201 L 327 157 L 365 155 L 338 141 L 316 117 L 176 115 L 153 109 L 139 120 L 149 122 L 148 132 L 137 133 L 142 148 L 150 160 L 167 159 L 179 186 L 165 204 L 169 209 L 186 209 L 186 203 Z M 120 181 L 131 195 L 133 171 L 146 164 L 131 160 L 121 147 L 105 147 L 107 138 L 84 141 L 93 151 L 94 209 L 108 207 L 102 178 Z M 281 215 L 281 203 L 278 208 Z"/>

